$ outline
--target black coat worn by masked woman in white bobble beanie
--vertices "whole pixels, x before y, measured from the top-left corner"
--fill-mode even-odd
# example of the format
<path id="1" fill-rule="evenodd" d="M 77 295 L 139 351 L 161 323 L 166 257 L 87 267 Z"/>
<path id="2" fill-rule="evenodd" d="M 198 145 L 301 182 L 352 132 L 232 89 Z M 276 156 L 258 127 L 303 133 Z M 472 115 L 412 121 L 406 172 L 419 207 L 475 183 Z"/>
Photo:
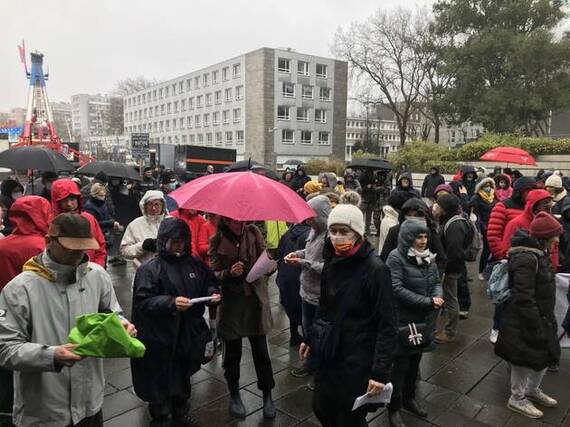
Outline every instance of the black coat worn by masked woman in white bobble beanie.
<path id="1" fill-rule="evenodd" d="M 334 390 L 343 410 L 350 411 L 354 399 L 366 393 L 368 380 L 386 383 L 397 340 L 396 307 L 388 267 L 364 241 L 351 257 L 339 257 L 327 241 L 321 299 L 316 318 L 334 319 L 346 286 L 354 272 L 366 263 L 363 280 L 340 325 L 336 363 L 316 374 L 318 387 Z"/>

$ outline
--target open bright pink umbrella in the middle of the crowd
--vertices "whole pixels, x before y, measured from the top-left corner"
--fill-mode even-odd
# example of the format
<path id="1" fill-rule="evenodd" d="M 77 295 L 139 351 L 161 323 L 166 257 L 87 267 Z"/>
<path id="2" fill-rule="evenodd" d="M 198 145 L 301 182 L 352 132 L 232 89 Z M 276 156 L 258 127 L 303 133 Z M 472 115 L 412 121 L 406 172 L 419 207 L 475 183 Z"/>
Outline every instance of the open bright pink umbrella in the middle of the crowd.
<path id="1" fill-rule="evenodd" d="M 238 221 L 299 223 L 315 216 L 289 187 L 253 172 L 206 175 L 169 194 L 182 209 L 196 209 Z"/>

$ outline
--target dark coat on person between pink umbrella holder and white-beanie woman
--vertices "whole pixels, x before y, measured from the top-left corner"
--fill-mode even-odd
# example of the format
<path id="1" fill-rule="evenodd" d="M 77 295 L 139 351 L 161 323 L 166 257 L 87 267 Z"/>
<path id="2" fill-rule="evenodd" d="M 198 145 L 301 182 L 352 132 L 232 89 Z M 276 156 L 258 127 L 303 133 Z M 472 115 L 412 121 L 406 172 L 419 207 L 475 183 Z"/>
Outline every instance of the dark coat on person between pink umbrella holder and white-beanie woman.
<path id="1" fill-rule="evenodd" d="M 311 227 L 306 224 L 296 224 L 285 233 L 279 242 L 279 267 L 277 270 L 277 286 L 279 287 L 279 302 L 285 308 L 287 317 L 293 323 L 301 324 L 301 267 L 288 265 L 283 259 L 291 252 L 305 249 Z"/>

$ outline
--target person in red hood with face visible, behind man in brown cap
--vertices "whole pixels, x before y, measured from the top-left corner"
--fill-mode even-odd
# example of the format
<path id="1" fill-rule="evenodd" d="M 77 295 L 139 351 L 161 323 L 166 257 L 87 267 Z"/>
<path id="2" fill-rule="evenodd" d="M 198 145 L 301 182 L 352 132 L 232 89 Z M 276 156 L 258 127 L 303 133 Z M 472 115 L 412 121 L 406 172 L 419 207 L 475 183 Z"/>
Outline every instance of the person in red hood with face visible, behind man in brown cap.
<path id="1" fill-rule="evenodd" d="M 82 212 L 81 202 L 81 191 L 79 191 L 74 181 L 71 179 L 58 179 L 54 181 L 51 187 L 52 216 L 55 218 L 60 213 L 69 212 L 78 213 L 87 218 L 89 224 L 91 224 L 91 233 L 95 240 L 97 240 L 97 243 L 99 243 L 99 249 L 86 251 L 87 256 L 89 256 L 89 261 L 106 268 L 107 251 L 105 249 L 105 236 L 95 217 L 88 212 Z"/>

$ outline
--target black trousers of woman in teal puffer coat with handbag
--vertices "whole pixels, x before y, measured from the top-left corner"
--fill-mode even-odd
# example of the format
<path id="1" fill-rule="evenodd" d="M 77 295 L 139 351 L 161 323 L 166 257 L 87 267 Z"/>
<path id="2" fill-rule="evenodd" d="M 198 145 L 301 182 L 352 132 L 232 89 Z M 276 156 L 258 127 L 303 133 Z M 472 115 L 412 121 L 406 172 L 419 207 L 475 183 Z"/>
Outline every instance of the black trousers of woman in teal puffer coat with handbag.
<path id="1" fill-rule="evenodd" d="M 392 400 L 388 405 L 390 410 L 396 411 L 402 407 L 402 402 L 411 400 L 416 396 L 416 380 L 420 370 L 423 353 L 398 355 L 394 358 L 390 381 L 394 386 Z"/>

